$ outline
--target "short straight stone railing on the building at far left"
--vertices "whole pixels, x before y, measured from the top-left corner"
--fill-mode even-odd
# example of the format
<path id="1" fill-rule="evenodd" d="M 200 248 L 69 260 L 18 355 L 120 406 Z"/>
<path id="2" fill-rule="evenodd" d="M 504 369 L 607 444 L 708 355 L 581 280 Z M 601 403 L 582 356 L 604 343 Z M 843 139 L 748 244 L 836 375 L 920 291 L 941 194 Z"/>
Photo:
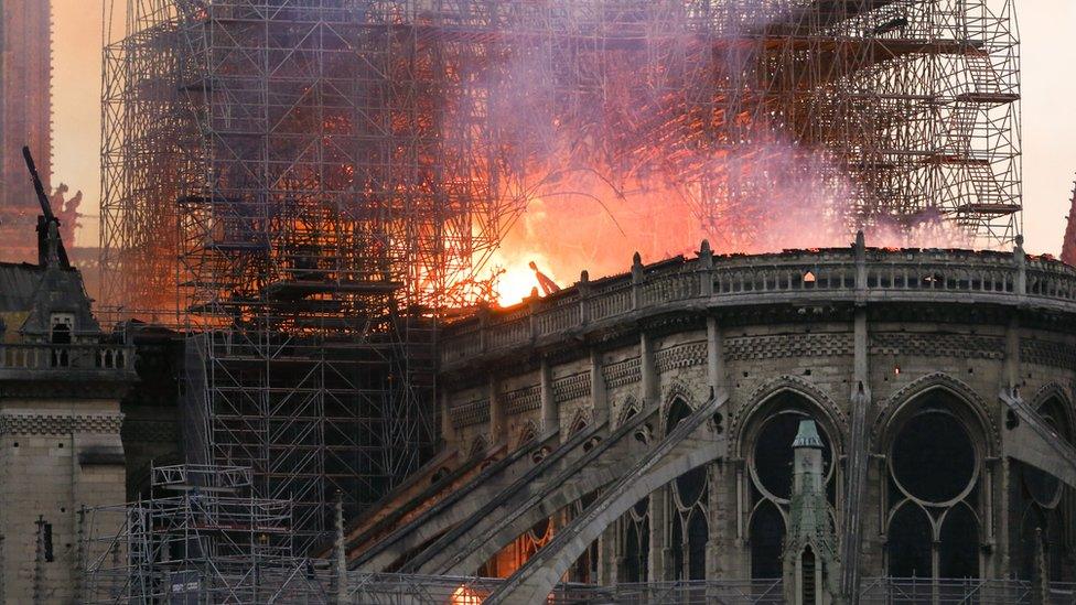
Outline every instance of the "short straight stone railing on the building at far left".
<path id="1" fill-rule="evenodd" d="M 0 376 L 8 370 L 133 372 L 134 347 L 96 343 L 2 344 L 0 345 Z"/>

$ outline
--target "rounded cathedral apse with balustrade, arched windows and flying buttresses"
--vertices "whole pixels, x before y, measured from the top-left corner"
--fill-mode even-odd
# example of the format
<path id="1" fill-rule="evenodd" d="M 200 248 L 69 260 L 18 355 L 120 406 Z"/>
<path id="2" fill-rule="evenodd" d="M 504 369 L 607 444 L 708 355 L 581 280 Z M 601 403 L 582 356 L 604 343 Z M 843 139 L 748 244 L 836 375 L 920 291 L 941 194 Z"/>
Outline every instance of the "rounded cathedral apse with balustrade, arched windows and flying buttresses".
<path id="1" fill-rule="evenodd" d="M 1076 579 L 1074 345 L 1076 270 L 1019 244 L 636 257 L 446 327 L 443 449 L 347 565 L 1015 602 Z"/>

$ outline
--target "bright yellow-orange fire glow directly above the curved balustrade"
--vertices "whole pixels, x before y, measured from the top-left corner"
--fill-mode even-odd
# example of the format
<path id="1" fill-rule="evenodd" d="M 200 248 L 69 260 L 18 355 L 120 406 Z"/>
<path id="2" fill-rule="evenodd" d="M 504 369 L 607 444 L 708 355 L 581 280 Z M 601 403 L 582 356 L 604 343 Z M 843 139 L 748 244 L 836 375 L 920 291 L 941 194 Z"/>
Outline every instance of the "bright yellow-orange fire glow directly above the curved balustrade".
<path id="1" fill-rule="evenodd" d="M 498 273 L 493 288 L 497 304 L 518 303 L 536 291 L 541 294 L 528 267 L 531 261 L 567 287 L 582 270 L 592 278 L 627 271 L 636 251 L 644 262 L 691 256 L 702 239 L 717 253 L 849 245 L 858 227 L 849 220 L 850 184 L 821 177 L 832 171 L 821 170 L 818 156 L 797 151 L 770 145 L 765 153 L 744 154 L 750 163 L 742 156 L 734 159 L 739 179 L 751 182 L 754 192 L 707 201 L 708 208 L 723 208 L 709 217 L 700 216 L 692 202 L 701 192 L 677 191 L 659 180 L 635 180 L 618 188 L 594 173 L 581 172 L 542 188 L 486 263 Z M 864 230 L 870 245 L 878 247 L 971 245 L 966 234 L 930 212 L 921 213 L 911 225 L 878 220 Z"/>

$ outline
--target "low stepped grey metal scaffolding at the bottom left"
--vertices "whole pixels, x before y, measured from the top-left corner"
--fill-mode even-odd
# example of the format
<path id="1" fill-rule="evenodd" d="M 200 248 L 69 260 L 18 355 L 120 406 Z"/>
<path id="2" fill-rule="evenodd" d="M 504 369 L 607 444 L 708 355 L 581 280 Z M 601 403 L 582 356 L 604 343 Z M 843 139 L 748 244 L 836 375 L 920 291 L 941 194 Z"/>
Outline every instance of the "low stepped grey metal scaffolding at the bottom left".
<path id="1" fill-rule="evenodd" d="M 79 603 L 327 603 L 325 561 L 292 552 L 291 503 L 249 468 L 161 466 L 149 499 L 79 514 Z"/>

